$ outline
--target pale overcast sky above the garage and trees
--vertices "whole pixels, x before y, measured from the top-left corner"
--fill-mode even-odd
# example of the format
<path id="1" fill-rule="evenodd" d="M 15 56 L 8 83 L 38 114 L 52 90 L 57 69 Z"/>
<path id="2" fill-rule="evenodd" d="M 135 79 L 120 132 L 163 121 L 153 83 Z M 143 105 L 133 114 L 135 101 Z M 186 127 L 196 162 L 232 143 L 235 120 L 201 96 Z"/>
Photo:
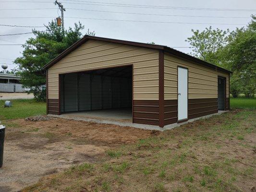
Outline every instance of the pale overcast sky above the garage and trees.
<path id="1" fill-rule="evenodd" d="M 19 2 L 20 1 L 20 2 Z M 21 2 L 22 1 L 22 2 Z M 60 0 L 65 28 L 79 21 L 96 36 L 136 42 L 155 42 L 180 50 L 192 51 L 187 37 L 191 29 L 212 26 L 223 30 L 243 27 L 256 15 L 256 0 Z M 30 9 L 30 10 L 27 10 Z M 125 12 L 125 13 L 124 13 Z M 22 55 L 31 27 L 44 26 L 61 16 L 54 0 L 0 0 L 0 65 L 8 70 L 16 67 L 15 58 Z M 31 18 L 33 17 L 33 18 Z M 122 20 L 122 21 L 120 21 Z M 37 28 L 44 30 L 44 27 Z M 12 44 L 12 45 L 10 45 Z M 1 71 L 1 68 L 0 68 Z"/>

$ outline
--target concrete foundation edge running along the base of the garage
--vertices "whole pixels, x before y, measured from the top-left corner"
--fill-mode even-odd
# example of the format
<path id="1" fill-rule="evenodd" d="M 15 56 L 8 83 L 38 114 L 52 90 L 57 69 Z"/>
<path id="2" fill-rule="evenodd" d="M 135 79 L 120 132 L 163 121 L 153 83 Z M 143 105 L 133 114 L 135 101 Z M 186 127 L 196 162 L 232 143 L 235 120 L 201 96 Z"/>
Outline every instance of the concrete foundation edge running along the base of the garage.
<path id="1" fill-rule="evenodd" d="M 189 123 L 189 122 L 193 122 L 195 120 L 200 120 L 200 119 L 207 119 L 210 118 L 214 115 L 220 115 L 223 113 L 226 113 L 227 111 L 219 111 L 218 113 L 214 113 L 214 114 L 210 114 L 210 115 L 206 115 L 203 117 L 198 117 L 195 119 L 191 119 L 191 120 L 187 120 L 185 122 L 181 122 L 181 123 L 172 123 L 170 125 L 165 125 L 163 128 L 159 127 L 157 125 L 146 125 L 146 124 L 138 124 L 138 123 L 132 123 L 132 122 L 122 122 L 122 121 L 115 121 L 115 120 L 99 120 L 99 119 L 91 119 L 91 118 L 86 118 L 86 117 L 81 117 L 81 116 L 73 116 L 70 117 L 69 115 L 51 115 L 49 114 L 48 116 L 50 117 L 58 117 L 58 118 L 63 118 L 63 119 L 67 119 L 67 120 L 83 120 L 83 121 L 89 121 L 89 122 L 95 122 L 95 123 L 105 123 L 105 124 L 114 124 L 114 125 L 119 125 L 122 127 L 134 127 L 134 128 L 139 128 L 139 129 L 145 129 L 145 130 L 157 130 L 157 131 L 165 131 L 165 130 L 170 130 L 173 129 L 175 127 L 179 127 L 183 124 Z"/>

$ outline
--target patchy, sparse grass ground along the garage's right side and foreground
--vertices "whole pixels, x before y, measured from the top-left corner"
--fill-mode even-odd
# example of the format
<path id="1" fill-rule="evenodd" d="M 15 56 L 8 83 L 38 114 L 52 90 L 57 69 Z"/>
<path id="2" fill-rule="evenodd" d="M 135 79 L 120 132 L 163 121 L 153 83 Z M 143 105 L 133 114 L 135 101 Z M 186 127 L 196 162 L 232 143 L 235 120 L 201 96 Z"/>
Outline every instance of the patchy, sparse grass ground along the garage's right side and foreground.
<path id="1" fill-rule="evenodd" d="M 23 192 L 242 192 L 255 185 L 256 110 L 236 109 L 106 152 Z M 244 158 L 246 157 L 246 158 Z"/>

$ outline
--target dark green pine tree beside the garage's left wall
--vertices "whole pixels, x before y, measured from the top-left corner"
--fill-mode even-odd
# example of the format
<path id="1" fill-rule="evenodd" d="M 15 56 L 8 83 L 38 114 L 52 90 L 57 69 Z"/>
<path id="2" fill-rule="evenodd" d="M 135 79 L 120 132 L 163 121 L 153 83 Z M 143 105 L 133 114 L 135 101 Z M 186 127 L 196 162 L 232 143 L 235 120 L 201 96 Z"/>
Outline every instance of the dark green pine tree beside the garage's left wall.
<path id="1" fill-rule="evenodd" d="M 46 74 L 42 67 L 57 57 L 82 37 L 84 26 L 79 22 L 73 28 L 65 30 L 57 26 L 55 21 L 49 22 L 46 31 L 32 30 L 35 37 L 26 40 L 22 57 L 14 63 L 18 64 L 18 72 L 24 87 L 30 88 L 37 100 L 45 100 L 46 93 L 42 85 L 46 84 Z M 95 36 L 89 29 L 87 35 Z"/>

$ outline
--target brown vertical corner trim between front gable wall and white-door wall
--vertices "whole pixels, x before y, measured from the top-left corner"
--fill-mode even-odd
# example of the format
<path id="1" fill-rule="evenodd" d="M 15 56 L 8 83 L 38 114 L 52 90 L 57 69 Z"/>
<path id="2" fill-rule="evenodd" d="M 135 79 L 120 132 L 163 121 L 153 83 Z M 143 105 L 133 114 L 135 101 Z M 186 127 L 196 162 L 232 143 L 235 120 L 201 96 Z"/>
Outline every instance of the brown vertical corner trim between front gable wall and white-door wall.
<path id="1" fill-rule="evenodd" d="M 159 127 L 164 127 L 164 52 L 159 50 Z"/>

